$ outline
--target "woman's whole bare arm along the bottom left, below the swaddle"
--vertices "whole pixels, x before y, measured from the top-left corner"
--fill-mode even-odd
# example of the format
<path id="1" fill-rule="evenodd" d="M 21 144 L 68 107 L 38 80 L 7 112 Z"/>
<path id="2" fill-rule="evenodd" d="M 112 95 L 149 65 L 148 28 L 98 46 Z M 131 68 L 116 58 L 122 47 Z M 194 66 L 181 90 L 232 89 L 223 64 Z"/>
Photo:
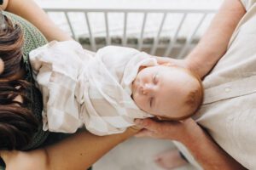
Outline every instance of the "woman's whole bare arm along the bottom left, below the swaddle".
<path id="1" fill-rule="evenodd" d="M 46 148 L 22 151 L 1 151 L 7 170 L 84 170 L 108 150 L 137 133 L 129 128 L 125 133 L 96 136 L 83 132 Z"/>

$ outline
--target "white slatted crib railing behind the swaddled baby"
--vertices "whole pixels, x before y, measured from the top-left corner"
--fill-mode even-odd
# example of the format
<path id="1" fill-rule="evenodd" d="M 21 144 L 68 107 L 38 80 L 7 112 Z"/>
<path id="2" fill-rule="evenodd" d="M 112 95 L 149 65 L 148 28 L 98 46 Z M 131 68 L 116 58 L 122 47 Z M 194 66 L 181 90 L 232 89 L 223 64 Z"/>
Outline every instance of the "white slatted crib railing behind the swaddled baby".
<path id="1" fill-rule="evenodd" d="M 50 15 L 52 13 L 61 13 L 64 14 L 64 18 L 68 25 L 69 31 L 71 32 L 73 38 L 76 40 L 80 40 L 81 35 L 75 31 L 75 26 L 72 22 L 72 17 L 70 14 L 83 14 L 84 20 L 87 27 L 87 34 L 84 36 L 89 42 L 84 45 L 86 48 L 90 48 L 93 51 L 96 51 L 97 48 L 101 48 L 104 45 L 122 45 L 122 46 L 129 46 L 132 48 L 137 48 L 139 50 L 147 51 L 149 54 L 157 54 L 163 56 L 176 56 L 177 58 L 182 58 L 189 52 L 191 48 L 193 48 L 196 42 L 199 41 L 202 32 L 205 31 L 207 26 L 202 26 L 205 22 L 207 25 L 209 20 L 212 19 L 212 16 L 216 13 L 215 9 L 160 9 L 160 8 L 44 8 L 44 10 Z M 119 37 L 112 37 L 110 35 L 110 28 L 109 28 L 109 15 L 119 13 L 119 17 L 123 20 L 123 29 L 122 35 Z M 97 36 L 95 32 L 92 30 L 92 23 L 95 18 L 91 18 L 90 14 L 103 14 L 103 24 L 102 26 L 105 27 L 105 33 L 103 34 L 102 38 L 104 39 L 103 42 L 97 41 Z M 143 14 L 143 20 L 141 24 L 140 31 L 137 32 L 139 35 L 137 37 L 137 41 L 129 42 L 129 35 L 127 34 L 128 27 L 128 16 L 130 14 Z M 148 15 L 149 14 L 160 14 L 159 18 L 154 20 L 160 20 L 160 25 L 155 26 L 157 29 L 155 30 L 155 35 L 151 38 L 151 42 L 145 43 L 145 40 L 148 37 L 145 37 L 145 26 L 148 22 Z M 181 17 L 173 18 L 173 20 L 177 20 L 176 26 L 172 26 L 172 34 L 161 36 L 163 32 L 163 27 L 166 24 L 166 17 L 170 14 L 179 14 Z M 185 24 L 185 20 L 189 20 L 189 15 L 191 14 L 198 14 L 196 16 L 197 23 L 193 24 L 195 26 L 190 26 Z M 208 18 L 208 20 L 206 20 Z M 195 19 L 195 17 L 194 17 Z M 81 22 L 82 23 L 82 22 Z M 77 23 L 78 25 L 78 23 Z M 182 36 L 180 35 L 180 31 L 183 27 L 186 27 L 187 34 Z M 201 30 L 199 33 L 199 30 Z M 188 31 L 189 30 L 189 31 Z M 188 33 L 189 32 L 189 33 Z M 199 34 L 199 35 L 198 35 Z M 196 36 L 197 35 L 197 36 Z M 83 37 L 83 36 L 82 36 Z M 120 39 L 119 42 L 114 42 L 114 38 Z M 149 39 L 150 39 L 149 38 Z M 163 41 L 165 40 L 165 41 Z"/>

